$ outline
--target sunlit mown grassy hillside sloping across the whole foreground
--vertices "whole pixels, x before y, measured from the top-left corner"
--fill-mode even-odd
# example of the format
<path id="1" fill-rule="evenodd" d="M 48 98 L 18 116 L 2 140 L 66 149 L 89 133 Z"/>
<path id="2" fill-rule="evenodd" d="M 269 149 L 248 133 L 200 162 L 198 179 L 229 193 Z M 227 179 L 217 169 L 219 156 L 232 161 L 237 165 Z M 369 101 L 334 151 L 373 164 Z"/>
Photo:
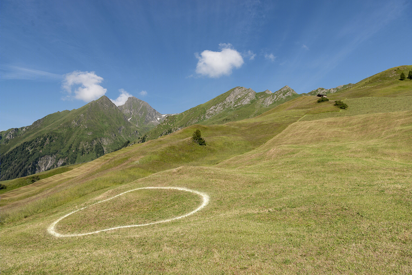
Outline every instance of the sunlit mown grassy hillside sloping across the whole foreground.
<path id="1" fill-rule="evenodd" d="M 0 201 L 1 270 L 411 273 L 412 110 L 403 100 L 410 88 L 398 89 L 408 83 L 394 79 L 387 88 L 359 85 L 334 94 L 353 99 L 348 110 L 333 106 L 333 98 L 316 103 L 315 96 L 302 96 L 252 119 L 190 126 L 6 192 Z M 393 101 L 368 113 L 376 98 Z M 208 146 L 190 141 L 197 128 Z M 74 210 L 57 231 L 149 223 L 201 203 L 199 196 L 170 189 L 139 189 L 106 200 L 150 186 L 194 189 L 210 201 L 168 223 L 67 238 L 47 232 Z"/>

